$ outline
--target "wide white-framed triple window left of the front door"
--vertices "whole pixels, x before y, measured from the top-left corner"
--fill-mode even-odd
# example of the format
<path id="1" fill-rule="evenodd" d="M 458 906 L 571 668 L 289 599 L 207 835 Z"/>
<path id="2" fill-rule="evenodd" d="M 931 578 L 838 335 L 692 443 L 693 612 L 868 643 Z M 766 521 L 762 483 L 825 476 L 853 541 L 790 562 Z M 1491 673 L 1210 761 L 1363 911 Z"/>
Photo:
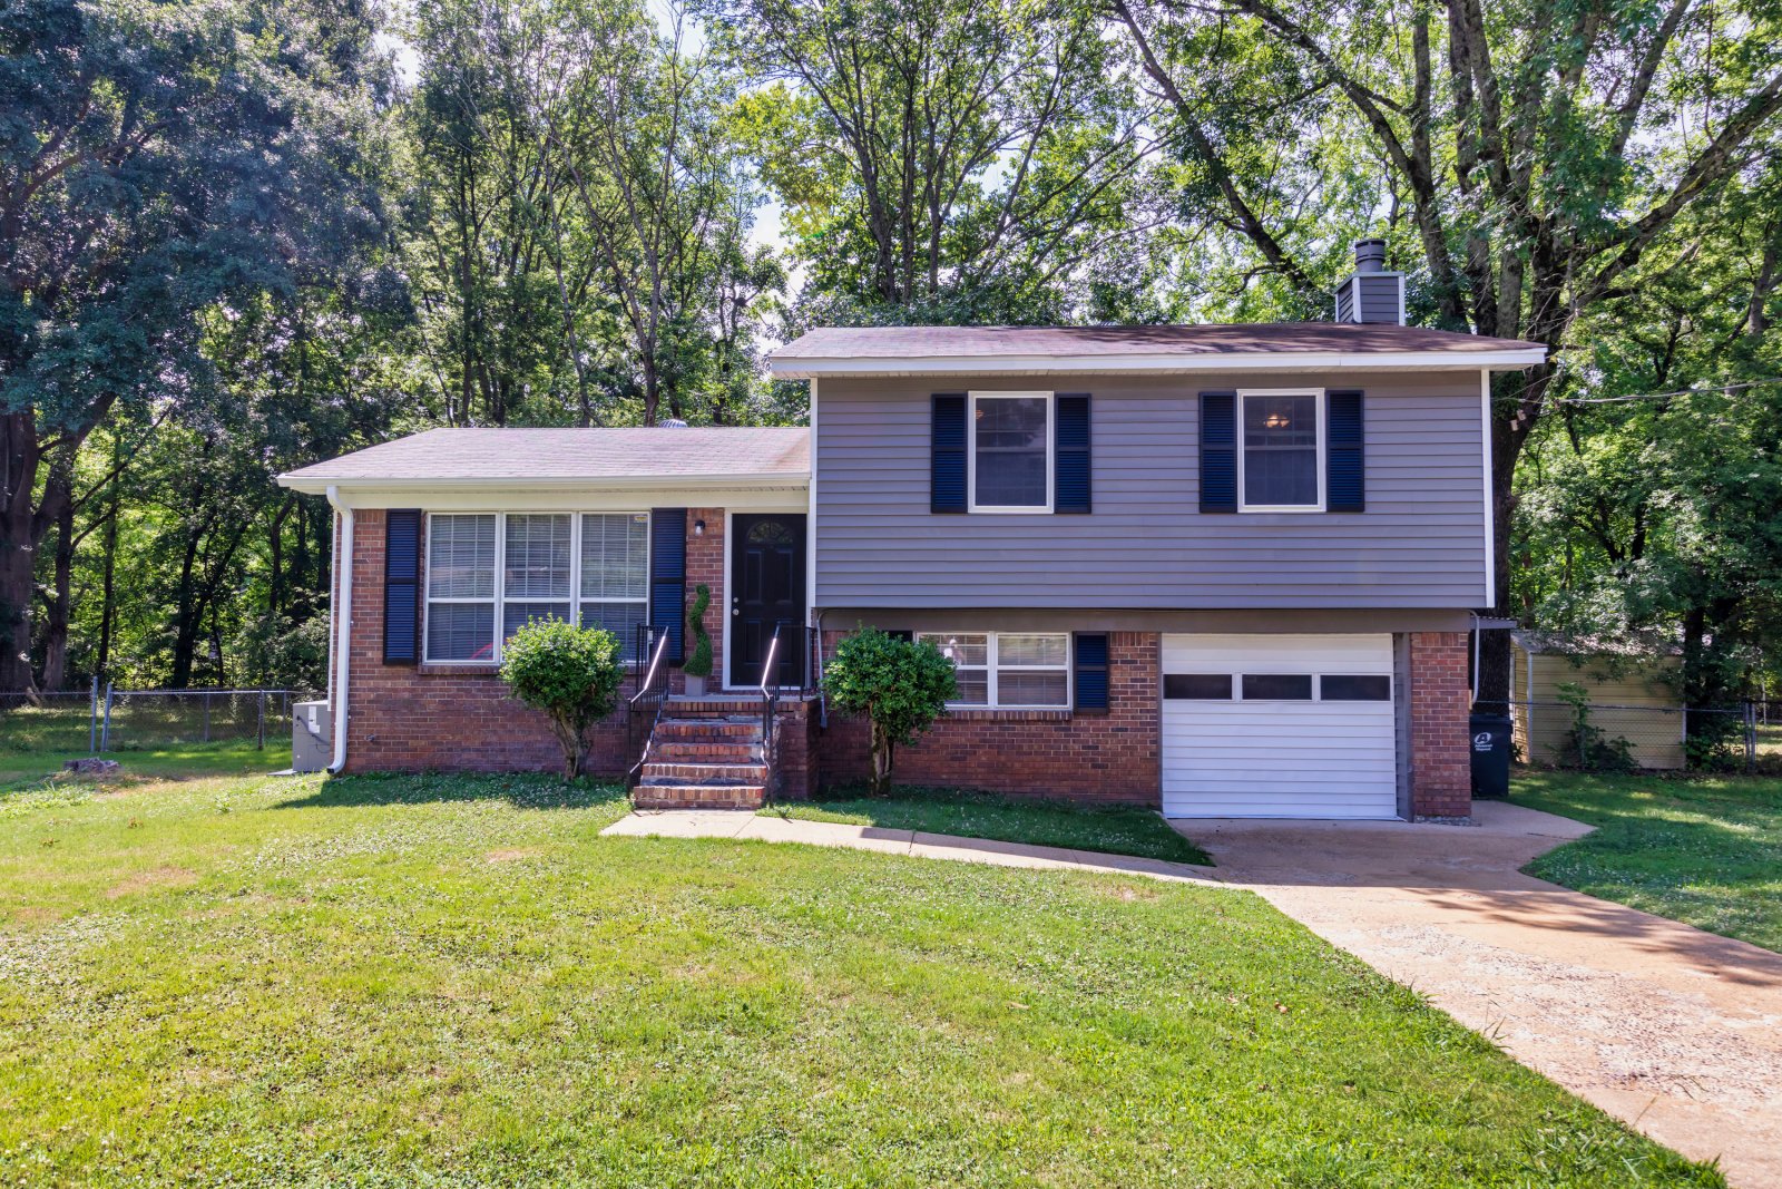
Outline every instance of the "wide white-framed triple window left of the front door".
<path id="1" fill-rule="evenodd" d="M 631 656 L 649 622 L 647 512 L 437 512 L 428 515 L 426 660 L 497 663 L 535 619 L 579 617 Z"/>

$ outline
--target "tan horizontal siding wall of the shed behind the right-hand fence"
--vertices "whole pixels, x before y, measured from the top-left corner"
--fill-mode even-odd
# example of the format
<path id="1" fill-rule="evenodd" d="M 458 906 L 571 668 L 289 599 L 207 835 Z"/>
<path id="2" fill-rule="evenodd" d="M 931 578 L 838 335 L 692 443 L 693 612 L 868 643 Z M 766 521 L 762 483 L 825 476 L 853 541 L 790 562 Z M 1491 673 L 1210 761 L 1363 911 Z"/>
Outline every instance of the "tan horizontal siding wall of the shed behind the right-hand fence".
<path id="1" fill-rule="evenodd" d="M 1559 686 L 1575 683 L 1590 692 L 1595 709 L 1590 722 L 1604 738 L 1623 738 L 1629 754 L 1641 768 L 1684 767 L 1682 701 L 1664 685 L 1664 674 L 1675 674 L 1675 656 L 1650 656 L 1611 665 L 1602 658 L 1574 665 L 1559 652 L 1534 652 L 1534 683 L 1529 683 L 1531 654 L 1520 645 L 1511 649 L 1511 701 L 1534 702 L 1511 706 L 1515 724 L 1511 738 L 1524 761 L 1536 765 L 1570 763 L 1572 708 L 1561 704 Z M 1533 720 L 1533 733 L 1531 733 Z"/>

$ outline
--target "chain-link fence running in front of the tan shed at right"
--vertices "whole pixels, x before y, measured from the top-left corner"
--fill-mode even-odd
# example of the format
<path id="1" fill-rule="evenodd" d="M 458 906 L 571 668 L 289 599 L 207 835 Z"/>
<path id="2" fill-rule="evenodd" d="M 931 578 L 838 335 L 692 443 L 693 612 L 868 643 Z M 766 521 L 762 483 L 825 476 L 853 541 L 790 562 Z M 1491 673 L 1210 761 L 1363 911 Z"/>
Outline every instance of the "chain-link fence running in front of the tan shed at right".
<path id="1" fill-rule="evenodd" d="M 1518 763 L 1584 772 L 1782 772 L 1782 720 L 1764 706 L 1479 702 L 1508 713 Z"/>

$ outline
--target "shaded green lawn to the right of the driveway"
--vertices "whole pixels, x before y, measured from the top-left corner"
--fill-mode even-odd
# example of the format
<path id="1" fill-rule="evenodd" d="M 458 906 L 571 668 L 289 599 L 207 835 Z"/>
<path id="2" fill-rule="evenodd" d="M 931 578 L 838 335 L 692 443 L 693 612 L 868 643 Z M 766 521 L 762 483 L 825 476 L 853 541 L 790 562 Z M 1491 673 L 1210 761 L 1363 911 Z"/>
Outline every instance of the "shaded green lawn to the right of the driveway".
<path id="1" fill-rule="evenodd" d="M 1511 800 L 1597 827 L 1531 875 L 1782 952 L 1782 777 L 1520 772 Z"/>

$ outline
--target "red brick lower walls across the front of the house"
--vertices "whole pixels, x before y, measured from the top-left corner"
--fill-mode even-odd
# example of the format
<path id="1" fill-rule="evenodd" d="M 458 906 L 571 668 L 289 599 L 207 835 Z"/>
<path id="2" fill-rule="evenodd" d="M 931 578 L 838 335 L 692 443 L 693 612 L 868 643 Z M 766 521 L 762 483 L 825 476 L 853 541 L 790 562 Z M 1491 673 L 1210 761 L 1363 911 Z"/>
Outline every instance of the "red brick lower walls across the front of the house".
<path id="1" fill-rule="evenodd" d="M 693 535 L 693 524 L 706 529 Z M 383 663 L 385 513 L 362 510 L 353 529 L 353 624 L 347 768 L 371 770 L 551 770 L 561 752 L 542 715 L 506 695 L 494 667 Z M 424 544 L 424 542 L 422 542 Z M 688 510 L 688 590 L 711 586 L 706 629 L 720 667 L 729 599 L 723 590 L 723 510 Z M 841 633 L 825 633 L 832 654 Z M 900 749 L 905 784 L 980 788 L 1075 800 L 1155 806 L 1162 788 L 1160 636 L 1110 633 L 1108 711 L 959 711 L 914 745 Z M 674 688 L 683 686 L 681 674 Z M 629 692 L 629 690 L 627 690 Z M 864 781 L 866 724 L 832 717 L 827 731 L 813 708 L 791 702 L 779 727 L 779 795 L 807 797 L 814 784 Z M 1410 777 L 1418 816 L 1467 816 L 1468 770 L 1467 636 L 1410 636 Z M 627 763 L 620 709 L 595 729 L 590 765 L 620 775 Z"/>

